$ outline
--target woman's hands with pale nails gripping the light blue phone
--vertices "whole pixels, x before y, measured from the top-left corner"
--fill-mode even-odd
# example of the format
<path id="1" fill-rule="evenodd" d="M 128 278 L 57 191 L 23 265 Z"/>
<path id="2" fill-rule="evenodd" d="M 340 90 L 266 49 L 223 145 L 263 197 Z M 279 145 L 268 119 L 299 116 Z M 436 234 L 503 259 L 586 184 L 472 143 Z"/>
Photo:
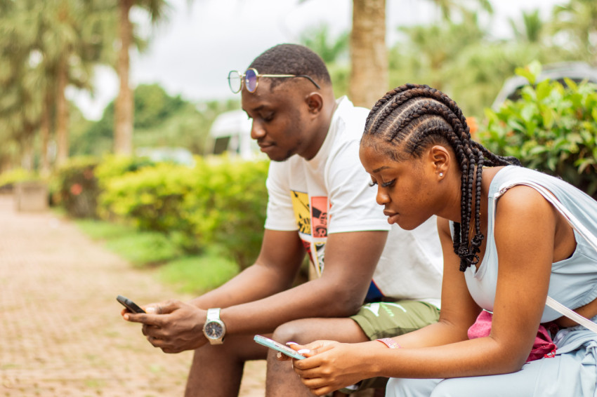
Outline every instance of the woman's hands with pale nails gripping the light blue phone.
<path id="1" fill-rule="evenodd" d="M 291 345 L 301 351 L 303 360 L 293 359 L 294 372 L 315 396 L 341 389 L 367 378 L 367 365 L 362 360 L 364 344 L 345 344 L 329 340 L 304 346 Z M 307 350 L 307 351 L 305 351 Z M 304 351 L 304 352 L 303 352 Z"/>

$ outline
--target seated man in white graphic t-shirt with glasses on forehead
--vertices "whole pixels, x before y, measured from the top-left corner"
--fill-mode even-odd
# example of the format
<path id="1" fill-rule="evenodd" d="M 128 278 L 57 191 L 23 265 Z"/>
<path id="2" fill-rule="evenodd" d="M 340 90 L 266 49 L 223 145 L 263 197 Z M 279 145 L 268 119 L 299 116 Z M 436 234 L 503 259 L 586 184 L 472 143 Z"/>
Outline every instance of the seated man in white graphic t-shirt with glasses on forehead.
<path id="1" fill-rule="evenodd" d="M 386 222 L 358 161 L 367 109 L 346 97 L 336 101 L 323 61 L 303 46 L 270 48 L 244 74 L 230 72 L 229 82 L 253 119 L 251 137 L 272 160 L 261 253 L 190 304 L 162 302 L 147 307 L 155 314 L 125 314 L 164 352 L 195 349 L 186 396 L 236 396 L 244 362 L 268 356 L 255 334 L 360 342 L 438 318 L 435 224 L 407 232 Z M 390 230 L 400 236 L 386 246 Z M 291 288 L 305 253 L 317 278 Z M 401 301 L 379 303 L 384 295 Z M 378 302 L 348 318 L 366 296 Z M 290 370 L 269 354 L 268 395 L 308 395 L 296 375 L 286 376 Z"/>

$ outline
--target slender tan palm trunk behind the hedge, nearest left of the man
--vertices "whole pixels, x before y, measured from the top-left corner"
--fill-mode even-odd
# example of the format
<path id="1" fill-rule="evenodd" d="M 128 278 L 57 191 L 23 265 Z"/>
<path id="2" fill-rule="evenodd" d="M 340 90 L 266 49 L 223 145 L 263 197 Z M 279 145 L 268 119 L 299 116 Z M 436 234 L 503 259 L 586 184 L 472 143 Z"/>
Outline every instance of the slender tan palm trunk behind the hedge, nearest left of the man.
<path id="1" fill-rule="evenodd" d="M 120 90 L 114 107 L 114 153 L 133 153 L 133 93 L 129 86 L 129 50 L 133 37 L 133 25 L 129 20 L 129 12 L 133 0 L 119 0 L 120 7 L 120 48 L 118 54 L 117 74 L 120 79 Z"/>

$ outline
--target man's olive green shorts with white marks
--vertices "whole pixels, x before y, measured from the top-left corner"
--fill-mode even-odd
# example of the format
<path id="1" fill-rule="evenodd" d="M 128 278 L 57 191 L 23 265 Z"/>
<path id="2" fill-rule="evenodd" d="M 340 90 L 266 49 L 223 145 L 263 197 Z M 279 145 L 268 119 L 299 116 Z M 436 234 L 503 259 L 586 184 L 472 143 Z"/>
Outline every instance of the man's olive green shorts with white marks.
<path id="1" fill-rule="evenodd" d="M 440 309 L 426 302 L 399 300 L 396 302 L 374 302 L 363 305 L 360 311 L 351 316 L 369 339 L 395 337 L 406 334 L 426 325 L 437 323 Z M 363 379 L 358 387 L 342 389 L 343 393 L 357 390 L 383 388 L 388 378 Z"/>

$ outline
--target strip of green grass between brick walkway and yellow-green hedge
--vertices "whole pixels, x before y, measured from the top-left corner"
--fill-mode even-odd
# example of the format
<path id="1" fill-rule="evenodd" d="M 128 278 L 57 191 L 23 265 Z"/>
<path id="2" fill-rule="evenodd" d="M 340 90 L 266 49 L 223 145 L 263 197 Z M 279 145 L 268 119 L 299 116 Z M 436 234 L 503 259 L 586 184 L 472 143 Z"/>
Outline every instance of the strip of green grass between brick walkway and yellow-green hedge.
<path id="1" fill-rule="evenodd" d="M 202 255 L 184 256 L 169 238 L 157 232 L 100 220 L 74 220 L 87 236 L 105 244 L 108 250 L 134 267 L 159 265 L 156 276 L 182 293 L 203 293 L 235 276 L 238 265 L 221 249 L 212 247 Z"/>

